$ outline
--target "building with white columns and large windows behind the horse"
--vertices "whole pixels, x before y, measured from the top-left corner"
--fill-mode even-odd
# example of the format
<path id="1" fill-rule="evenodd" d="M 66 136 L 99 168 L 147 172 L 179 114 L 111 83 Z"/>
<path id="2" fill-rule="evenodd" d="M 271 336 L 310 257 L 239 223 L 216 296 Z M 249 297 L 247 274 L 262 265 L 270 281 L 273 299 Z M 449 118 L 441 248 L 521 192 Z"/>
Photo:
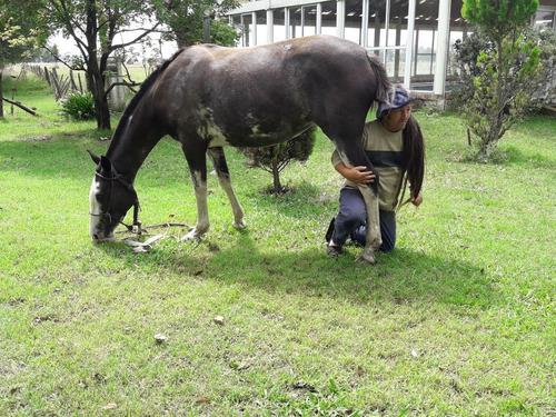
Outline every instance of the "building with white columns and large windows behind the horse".
<path id="1" fill-rule="evenodd" d="M 240 47 L 334 34 L 380 57 L 391 80 L 443 100 L 454 78 L 450 49 L 468 33 L 461 0 L 256 0 L 230 11 Z M 556 0 L 534 24 L 556 30 Z"/>

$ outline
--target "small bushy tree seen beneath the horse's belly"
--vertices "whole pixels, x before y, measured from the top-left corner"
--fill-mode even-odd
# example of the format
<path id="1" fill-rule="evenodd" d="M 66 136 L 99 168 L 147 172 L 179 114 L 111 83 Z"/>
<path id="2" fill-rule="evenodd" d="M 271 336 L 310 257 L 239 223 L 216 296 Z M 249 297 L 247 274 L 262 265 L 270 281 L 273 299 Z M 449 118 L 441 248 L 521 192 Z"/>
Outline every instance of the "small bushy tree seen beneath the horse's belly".
<path id="1" fill-rule="evenodd" d="M 261 168 L 272 175 L 272 193 L 281 193 L 285 188 L 280 181 L 280 172 L 291 161 L 305 162 L 315 147 L 315 128 L 288 140 L 287 142 L 264 148 L 239 148 L 249 158 L 251 167 Z"/>

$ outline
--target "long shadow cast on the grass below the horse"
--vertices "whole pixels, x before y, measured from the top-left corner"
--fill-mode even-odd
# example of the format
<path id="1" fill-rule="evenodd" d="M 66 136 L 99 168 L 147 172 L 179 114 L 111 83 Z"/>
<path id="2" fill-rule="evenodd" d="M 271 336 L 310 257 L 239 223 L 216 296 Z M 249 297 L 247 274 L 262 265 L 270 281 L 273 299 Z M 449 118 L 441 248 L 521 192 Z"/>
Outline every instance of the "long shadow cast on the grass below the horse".
<path id="1" fill-rule="evenodd" d="M 265 251 L 248 231 L 229 237 L 230 240 L 220 246 L 210 236 L 200 242 L 167 240 L 139 256 L 119 245 L 99 248 L 109 256 L 120 257 L 130 267 L 153 269 L 169 279 L 211 279 L 222 285 L 256 287 L 278 296 L 328 296 L 354 302 L 426 300 L 479 308 L 495 299 L 485 270 L 459 259 L 398 248 L 388 255 L 379 254 L 378 264 L 370 266 L 356 262 L 360 248 L 348 247 L 346 255 L 334 259 L 327 257 L 324 246 L 301 251 Z"/>

